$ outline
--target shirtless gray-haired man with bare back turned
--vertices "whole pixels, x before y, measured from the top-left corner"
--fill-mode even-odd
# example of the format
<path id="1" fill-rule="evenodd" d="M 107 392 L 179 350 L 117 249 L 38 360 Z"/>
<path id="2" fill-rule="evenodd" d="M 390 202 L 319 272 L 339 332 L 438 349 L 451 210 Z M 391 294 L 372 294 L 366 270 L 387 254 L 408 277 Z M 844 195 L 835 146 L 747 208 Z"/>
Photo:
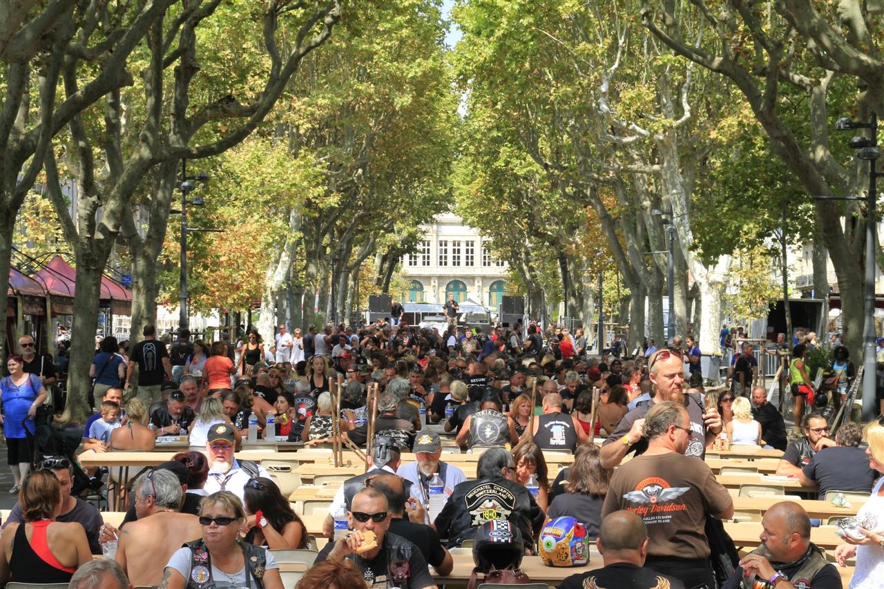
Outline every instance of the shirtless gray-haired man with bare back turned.
<path id="1" fill-rule="evenodd" d="M 115 558 L 134 586 L 159 585 L 163 570 L 157 562 L 169 562 L 182 544 L 200 538 L 202 526 L 197 516 L 179 513 L 181 483 L 171 470 L 141 475 L 133 493 L 138 520 L 118 531 Z"/>

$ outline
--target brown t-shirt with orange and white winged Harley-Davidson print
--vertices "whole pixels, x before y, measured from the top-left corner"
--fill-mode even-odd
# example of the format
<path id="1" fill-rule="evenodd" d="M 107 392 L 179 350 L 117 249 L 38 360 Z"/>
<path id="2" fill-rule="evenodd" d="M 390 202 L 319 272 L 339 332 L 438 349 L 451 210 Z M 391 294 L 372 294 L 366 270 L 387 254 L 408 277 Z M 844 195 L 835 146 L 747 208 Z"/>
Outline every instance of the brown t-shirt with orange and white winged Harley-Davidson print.
<path id="1" fill-rule="evenodd" d="M 618 509 L 641 516 L 650 556 L 708 558 L 706 516 L 733 501 L 702 460 L 674 452 L 643 454 L 614 470 L 602 517 Z"/>

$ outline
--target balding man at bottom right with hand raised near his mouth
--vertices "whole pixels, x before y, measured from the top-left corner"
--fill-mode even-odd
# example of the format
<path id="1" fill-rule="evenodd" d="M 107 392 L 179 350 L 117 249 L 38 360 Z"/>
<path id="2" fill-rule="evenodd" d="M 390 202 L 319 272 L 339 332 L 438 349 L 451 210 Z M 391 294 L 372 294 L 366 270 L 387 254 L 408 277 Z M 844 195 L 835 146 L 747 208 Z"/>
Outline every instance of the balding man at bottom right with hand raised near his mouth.
<path id="1" fill-rule="evenodd" d="M 794 501 L 775 503 L 761 527 L 761 546 L 740 559 L 722 589 L 842 589 L 838 570 L 811 542 L 811 520 L 804 508 Z"/>

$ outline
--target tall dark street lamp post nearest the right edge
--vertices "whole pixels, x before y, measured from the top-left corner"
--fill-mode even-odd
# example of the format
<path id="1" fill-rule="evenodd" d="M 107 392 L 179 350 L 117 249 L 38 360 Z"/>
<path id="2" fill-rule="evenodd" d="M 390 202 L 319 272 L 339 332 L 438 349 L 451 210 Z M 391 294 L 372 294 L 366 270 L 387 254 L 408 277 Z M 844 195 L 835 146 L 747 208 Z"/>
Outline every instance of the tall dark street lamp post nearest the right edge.
<path id="1" fill-rule="evenodd" d="M 873 112 L 868 123 L 850 119 L 838 119 L 835 129 L 868 129 L 871 138 L 854 137 L 850 147 L 857 149 L 857 157 L 869 162 L 869 192 L 866 195 L 867 215 L 865 219 L 865 321 L 863 322 L 863 420 L 871 421 L 878 414 L 875 399 L 875 252 L 877 242 L 877 182 L 879 172 L 875 162 L 880 157 L 878 149 L 878 115 Z M 845 408 L 850 411 L 850 408 Z M 850 413 L 848 413 L 850 415 Z"/>

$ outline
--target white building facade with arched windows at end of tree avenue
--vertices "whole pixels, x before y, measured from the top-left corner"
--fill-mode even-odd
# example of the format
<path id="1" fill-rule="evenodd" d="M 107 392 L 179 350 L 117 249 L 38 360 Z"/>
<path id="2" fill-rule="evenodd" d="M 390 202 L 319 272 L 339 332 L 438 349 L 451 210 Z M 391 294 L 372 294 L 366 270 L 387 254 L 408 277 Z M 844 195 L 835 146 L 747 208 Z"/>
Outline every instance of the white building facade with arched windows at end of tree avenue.
<path id="1" fill-rule="evenodd" d="M 417 253 L 403 256 L 402 274 L 410 281 L 404 302 L 458 302 L 468 298 L 497 311 L 507 290 L 507 264 L 495 259 L 490 241 L 453 213 L 442 213 L 421 226 Z"/>

